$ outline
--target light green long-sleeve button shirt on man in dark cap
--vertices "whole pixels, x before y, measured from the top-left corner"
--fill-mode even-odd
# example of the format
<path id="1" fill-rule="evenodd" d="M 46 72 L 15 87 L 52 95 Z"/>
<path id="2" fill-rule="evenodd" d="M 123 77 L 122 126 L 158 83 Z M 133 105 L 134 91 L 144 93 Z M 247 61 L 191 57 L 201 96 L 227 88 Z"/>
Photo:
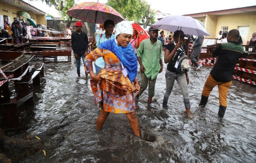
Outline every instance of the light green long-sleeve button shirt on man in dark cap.
<path id="1" fill-rule="evenodd" d="M 161 69 L 159 61 L 163 59 L 162 42 L 157 40 L 153 44 L 150 39 L 145 39 L 140 43 L 137 57 L 141 58 L 142 65 L 145 68 L 144 73 L 147 78 L 155 79 Z"/>

